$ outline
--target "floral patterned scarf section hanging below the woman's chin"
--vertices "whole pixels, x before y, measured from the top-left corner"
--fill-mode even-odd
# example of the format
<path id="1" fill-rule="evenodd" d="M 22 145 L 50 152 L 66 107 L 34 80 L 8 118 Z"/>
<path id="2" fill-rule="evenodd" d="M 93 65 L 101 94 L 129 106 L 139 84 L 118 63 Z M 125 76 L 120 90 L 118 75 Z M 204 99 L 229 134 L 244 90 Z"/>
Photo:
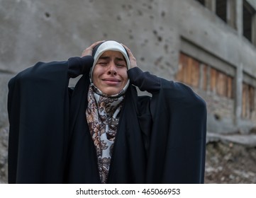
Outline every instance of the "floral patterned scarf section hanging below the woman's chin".
<path id="1" fill-rule="evenodd" d="M 124 95 L 106 97 L 91 83 L 87 99 L 87 122 L 96 147 L 99 176 L 101 182 L 106 183 Z"/>

